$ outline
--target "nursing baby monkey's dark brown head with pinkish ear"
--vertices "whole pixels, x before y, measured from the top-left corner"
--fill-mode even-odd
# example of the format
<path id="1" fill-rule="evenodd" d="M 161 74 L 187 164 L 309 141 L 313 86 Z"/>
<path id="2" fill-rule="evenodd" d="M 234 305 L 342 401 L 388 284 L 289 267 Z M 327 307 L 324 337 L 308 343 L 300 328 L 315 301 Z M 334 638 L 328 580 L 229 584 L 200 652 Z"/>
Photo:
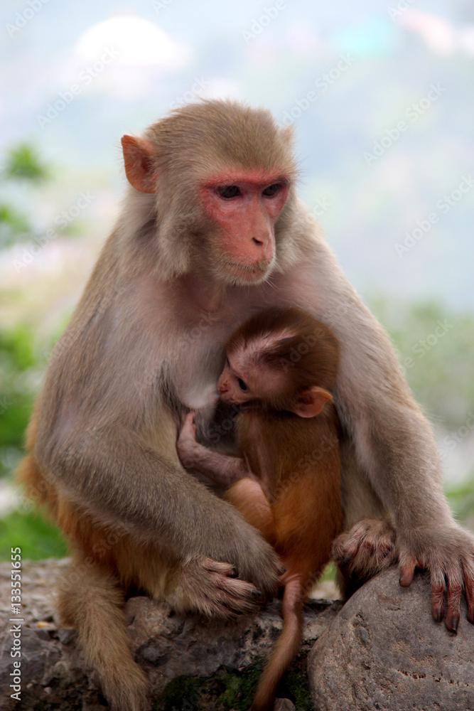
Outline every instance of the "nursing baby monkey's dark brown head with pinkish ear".
<path id="1" fill-rule="evenodd" d="M 315 417 L 332 399 L 339 346 L 299 309 L 267 309 L 245 321 L 226 348 L 217 390 L 225 402 Z"/>

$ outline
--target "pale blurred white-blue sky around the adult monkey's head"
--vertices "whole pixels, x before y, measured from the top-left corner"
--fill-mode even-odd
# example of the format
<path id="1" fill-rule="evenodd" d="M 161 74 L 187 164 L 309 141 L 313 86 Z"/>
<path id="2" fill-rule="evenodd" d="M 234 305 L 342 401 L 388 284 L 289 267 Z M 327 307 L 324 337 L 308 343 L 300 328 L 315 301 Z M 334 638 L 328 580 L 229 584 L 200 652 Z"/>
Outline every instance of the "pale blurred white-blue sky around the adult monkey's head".
<path id="1" fill-rule="evenodd" d="M 90 191 L 108 230 L 122 134 L 233 97 L 293 124 L 301 196 L 362 296 L 474 309 L 472 2 L 4 0 L 0 30 L 0 150 L 28 139 L 68 176 L 38 220 Z"/>

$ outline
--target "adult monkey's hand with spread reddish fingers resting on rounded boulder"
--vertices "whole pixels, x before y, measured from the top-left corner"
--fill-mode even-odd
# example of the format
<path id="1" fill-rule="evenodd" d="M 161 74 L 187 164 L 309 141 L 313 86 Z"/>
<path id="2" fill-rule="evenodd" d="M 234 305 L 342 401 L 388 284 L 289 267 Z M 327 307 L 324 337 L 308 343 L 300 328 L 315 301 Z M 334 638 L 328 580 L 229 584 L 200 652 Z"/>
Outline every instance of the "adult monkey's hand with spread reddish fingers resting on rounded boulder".
<path id="1" fill-rule="evenodd" d="M 408 587 L 415 568 L 431 575 L 431 614 L 440 622 L 444 616 L 448 630 L 456 632 L 460 617 L 460 597 L 465 592 L 468 620 L 474 623 L 474 536 L 453 523 L 432 529 L 399 534 L 400 584 Z"/>

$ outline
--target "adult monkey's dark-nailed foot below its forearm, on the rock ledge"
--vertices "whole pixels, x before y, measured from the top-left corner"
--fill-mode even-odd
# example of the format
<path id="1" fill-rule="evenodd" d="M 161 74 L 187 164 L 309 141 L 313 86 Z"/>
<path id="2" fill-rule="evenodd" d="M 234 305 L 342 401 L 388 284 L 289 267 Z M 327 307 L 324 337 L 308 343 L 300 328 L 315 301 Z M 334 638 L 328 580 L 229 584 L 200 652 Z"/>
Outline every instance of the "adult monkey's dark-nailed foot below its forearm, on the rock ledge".
<path id="1" fill-rule="evenodd" d="M 195 610 L 208 617 L 230 618 L 257 607 L 260 592 L 252 583 L 235 577 L 230 563 L 208 557 L 183 565 L 178 587 L 168 602 L 177 610 Z"/>

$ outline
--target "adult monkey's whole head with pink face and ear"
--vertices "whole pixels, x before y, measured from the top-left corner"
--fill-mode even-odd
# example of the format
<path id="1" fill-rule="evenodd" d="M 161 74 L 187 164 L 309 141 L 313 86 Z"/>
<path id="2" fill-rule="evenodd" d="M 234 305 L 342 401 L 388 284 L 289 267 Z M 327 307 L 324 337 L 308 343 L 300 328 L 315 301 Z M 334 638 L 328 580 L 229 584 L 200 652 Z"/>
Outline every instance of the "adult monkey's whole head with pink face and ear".
<path id="1" fill-rule="evenodd" d="M 227 101 L 176 109 L 122 138 L 126 177 L 153 193 L 161 272 L 199 269 L 227 284 L 264 281 L 283 256 L 294 200 L 291 132 Z"/>

